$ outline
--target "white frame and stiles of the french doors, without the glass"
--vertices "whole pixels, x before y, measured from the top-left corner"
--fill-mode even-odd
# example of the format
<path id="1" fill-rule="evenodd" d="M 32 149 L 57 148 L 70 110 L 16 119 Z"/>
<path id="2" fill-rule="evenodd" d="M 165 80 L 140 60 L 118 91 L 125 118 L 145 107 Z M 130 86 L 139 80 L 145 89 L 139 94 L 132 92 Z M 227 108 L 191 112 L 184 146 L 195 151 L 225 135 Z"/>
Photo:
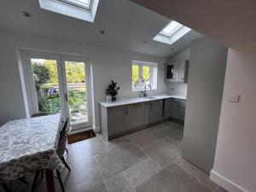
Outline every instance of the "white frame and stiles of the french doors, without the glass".
<path id="1" fill-rule="evenodd" d="M 58 53 L 48 53 L 48 52 L 39 52 L 32 50 L 20 50 L 21 59 L 22 59 L 22 67 L 24 71 L 24 78 L 26 83 L 26 95 L 27 95 L 27 103 L 29 106 L 29 114 L 38 113 L 38 101 L 34 86 L 34 79 L 32 77 L 32 66 L 31 66 L 31 58 L 38 59 L 47 59 L 56 61 L 57 65 L 57 73 L 58 73 L 58 81 L 59 81 L 59 89 L 60 89 L 60 100 L 61 100 L 61 115 L 66 119 L 69 116 L 69 108 L 68 102 L 65 100 L 65 94 L 67 94 L 67 81 L 66 81 L 66 71 L 65 71 L 65 61 L 78 61 L 84 62 L 85 69 L 85 84 L 87 91 L 87 112 L 88 112 L 88 122 L 86 123 L 86 127 L 91 126 L 91 109 L 92 109 L 92 98 L 91 98 L 91 74 L 90 74 L 90 58 L 84 56 L 76 56 L 76 55 L 64 55 Z M 73 129 L 78 129 L 76 125 L 73 125 Z"/>

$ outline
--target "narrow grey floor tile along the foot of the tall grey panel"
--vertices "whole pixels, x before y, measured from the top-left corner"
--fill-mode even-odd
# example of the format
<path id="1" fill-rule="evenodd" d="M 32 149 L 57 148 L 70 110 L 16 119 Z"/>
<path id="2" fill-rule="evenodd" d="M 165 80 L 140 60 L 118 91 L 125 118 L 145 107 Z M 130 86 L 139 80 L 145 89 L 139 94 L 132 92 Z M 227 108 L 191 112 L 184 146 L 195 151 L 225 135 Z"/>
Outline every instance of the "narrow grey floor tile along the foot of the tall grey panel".
<path id="1" fill-rule="evenodd" d="M 201 169 L 191 164 L 188 160 L 181 158 L 175 161 L 175 163 L 177 163 L 178 166 L 181 166 L 185 171 L 192 174 L 194 177 L 198 178 L 207 186 L 208 189 L 211 189 L 212 191 L 218 189 L 218 184 L 213 183 L 206 172 L 201 171 Z"/>

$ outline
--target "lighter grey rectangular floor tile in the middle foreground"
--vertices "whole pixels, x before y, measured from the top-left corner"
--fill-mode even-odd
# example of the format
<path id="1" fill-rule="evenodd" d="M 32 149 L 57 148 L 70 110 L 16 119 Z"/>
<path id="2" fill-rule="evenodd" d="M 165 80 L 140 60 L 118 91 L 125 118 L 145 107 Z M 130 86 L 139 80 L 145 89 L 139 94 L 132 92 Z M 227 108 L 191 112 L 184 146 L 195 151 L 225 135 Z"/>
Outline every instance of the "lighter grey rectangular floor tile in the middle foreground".
<path id="1" fill-rule="evenodd" d="M 160 172 L 162 167 L 151 158 L 125 170 L 124 174 L 131 186 L 135 188 L 139 183 Z"/>

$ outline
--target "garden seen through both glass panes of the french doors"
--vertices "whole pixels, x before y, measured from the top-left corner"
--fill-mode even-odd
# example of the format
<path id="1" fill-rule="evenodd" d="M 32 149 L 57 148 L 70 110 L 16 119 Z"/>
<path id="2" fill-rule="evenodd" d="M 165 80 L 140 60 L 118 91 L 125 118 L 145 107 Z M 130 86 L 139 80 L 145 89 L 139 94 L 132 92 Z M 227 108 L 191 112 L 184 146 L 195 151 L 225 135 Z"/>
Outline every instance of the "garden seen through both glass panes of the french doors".
<path id="1" fill-rule="evenodd" d="M 68 104 L 71 123 L 87 121 L 84 62 L 65 61 Z M 61 113 L 61 99 L 56 61 L 32 59 L 32 73 L 38 110 Z"/>

